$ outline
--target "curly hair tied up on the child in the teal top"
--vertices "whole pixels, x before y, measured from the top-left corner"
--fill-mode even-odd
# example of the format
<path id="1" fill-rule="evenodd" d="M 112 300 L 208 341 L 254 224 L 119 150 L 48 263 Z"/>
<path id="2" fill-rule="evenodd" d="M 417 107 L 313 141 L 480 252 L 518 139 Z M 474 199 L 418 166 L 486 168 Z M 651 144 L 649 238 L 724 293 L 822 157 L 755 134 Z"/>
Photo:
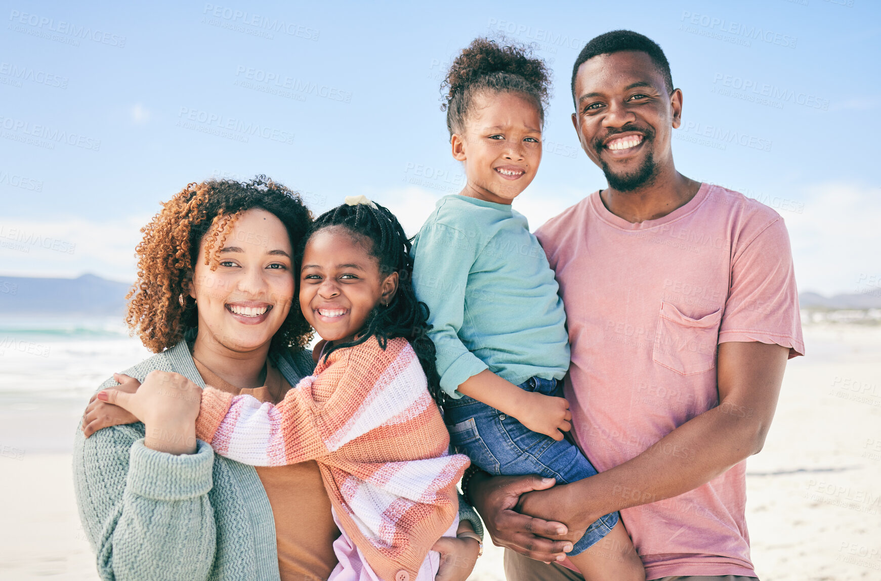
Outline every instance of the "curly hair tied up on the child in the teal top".
<path id="1" fill-rule="evenodd" d="M 495 40 L 477 38 L 455 57 L 441 92 L 447 90 L 441 111 L 447 112 L 449 135 L 463 133 L 465 120 L 475 95 L 485 91 L 519 92 L 536 102 L 538 116 L 544 124 L 544 107 L 548 104 L 551 74 L 544 61 L 532 57 L 532 50 L 504 39 L 500 47 Z"/>

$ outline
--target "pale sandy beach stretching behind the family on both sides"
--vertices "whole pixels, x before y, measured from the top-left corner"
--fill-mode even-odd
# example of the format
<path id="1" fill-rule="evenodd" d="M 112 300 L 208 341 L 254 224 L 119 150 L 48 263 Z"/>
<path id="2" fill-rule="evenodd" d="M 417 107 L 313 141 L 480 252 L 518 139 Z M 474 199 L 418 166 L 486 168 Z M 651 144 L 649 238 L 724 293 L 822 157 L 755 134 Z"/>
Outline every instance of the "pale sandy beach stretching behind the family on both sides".
<path id="1" fill-rule="evenodd" d="M 765 449 L 748 461 L 752 559 L 765 581 L 881 579 L 881 327 L 807 326 L 804 335 L 808 357 L 789 362 Z M 3 357 L 2 579 L 98 578 L 74 502 L 70 433 L 100 379 L 144 356 L 137 344 L 113 344 L 80 342 L 78 357 Z M 34 364 L 21 385 L 40 393 L 12 389 Z M 59 378 L 75 389 L 53 392 Z M 504 579 L 501 555 L 490 543 L 470 578 Z"/>

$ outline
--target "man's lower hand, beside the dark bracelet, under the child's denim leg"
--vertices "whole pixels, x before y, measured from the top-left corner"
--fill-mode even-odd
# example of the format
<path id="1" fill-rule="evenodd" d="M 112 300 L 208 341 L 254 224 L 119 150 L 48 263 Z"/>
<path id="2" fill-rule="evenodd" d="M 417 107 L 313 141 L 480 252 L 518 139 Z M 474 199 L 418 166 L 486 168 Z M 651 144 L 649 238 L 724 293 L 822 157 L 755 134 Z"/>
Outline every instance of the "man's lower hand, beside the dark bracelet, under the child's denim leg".
<path id="1" fill-rule="evenodd" d="M 532 518 L 513 509 L 520 495 L 530 490 L 549 489 L 553 485 L 552 478 L 537 474 L 492 477 L 478 472 L 471 478 L 468 491 L 496 546 L 551 563 L 564 560 L 566 551 L 572 550 L 571 541 L 551 541 L 548 538 L 566 534 L 566 525 Z"/>

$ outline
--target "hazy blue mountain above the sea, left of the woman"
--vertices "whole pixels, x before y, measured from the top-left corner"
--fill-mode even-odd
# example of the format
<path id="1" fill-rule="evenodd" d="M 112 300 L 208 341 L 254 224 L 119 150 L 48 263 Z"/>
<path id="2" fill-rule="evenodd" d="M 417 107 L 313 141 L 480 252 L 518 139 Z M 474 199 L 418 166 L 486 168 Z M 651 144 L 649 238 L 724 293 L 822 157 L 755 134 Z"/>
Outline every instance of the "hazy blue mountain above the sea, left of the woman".
<path id="1" fill-rule="evenodd" d="M 100 276 L 29 278 L 0 276 L 0 313 L 89 314 L 116 316 L 125 312 L 130 284 Z"/>

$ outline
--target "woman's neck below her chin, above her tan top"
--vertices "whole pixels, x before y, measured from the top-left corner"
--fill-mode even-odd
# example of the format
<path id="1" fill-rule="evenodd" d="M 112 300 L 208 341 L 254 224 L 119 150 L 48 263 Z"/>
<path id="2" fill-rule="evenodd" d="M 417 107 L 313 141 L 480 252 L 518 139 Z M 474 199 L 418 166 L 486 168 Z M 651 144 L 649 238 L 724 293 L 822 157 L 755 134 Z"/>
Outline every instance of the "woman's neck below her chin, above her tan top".
<path id="1" fill-rule="evenodd" d="M 266 382 L 266 357 L 270 344 L 257 349 L 237 351 L 226 347 L 199 328 L 193 343 L 193 358 L 214 372 L 220 379 L 240 389 L 254 389 Z"/>

